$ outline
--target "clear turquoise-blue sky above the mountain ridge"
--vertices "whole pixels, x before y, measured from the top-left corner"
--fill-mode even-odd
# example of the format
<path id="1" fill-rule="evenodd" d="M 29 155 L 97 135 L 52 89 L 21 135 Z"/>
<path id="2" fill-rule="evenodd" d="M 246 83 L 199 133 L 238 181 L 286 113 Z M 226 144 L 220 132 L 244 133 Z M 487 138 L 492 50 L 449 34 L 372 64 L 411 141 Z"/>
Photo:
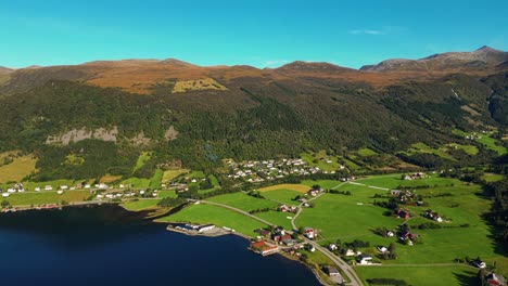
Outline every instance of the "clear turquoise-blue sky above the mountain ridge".
<path id="1" fill-rule="evenodd" d="M 508 50 L 507 0 L 0 0 L 0 66 L 179 58 L 360 67 Z"/>

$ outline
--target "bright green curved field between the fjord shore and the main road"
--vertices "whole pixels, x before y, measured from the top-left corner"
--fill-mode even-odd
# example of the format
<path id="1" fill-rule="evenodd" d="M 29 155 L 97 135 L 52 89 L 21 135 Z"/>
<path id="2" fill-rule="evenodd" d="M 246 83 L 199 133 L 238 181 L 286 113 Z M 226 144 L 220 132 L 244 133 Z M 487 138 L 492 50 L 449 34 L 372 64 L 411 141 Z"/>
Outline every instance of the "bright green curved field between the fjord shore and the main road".
<path id="1" fill-rule="evenodd" d="M 227 226 L 239 233 L 255 237 L 254 230 L 266 227 L 254 219 L 242 216 L 229 209 L 211 205 L 192 205 L 172 216 L 157 220 L 158 222 L 191 222 L 213 223 L 217 226 Z"/>

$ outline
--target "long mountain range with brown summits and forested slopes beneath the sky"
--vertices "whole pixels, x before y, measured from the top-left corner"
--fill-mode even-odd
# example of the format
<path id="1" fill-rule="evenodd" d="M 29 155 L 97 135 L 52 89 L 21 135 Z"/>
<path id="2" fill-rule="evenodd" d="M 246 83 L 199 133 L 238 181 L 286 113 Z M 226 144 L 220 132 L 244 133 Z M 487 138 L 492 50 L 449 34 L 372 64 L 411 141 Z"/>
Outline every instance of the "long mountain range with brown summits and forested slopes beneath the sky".
<path id="1" fill-rule="evenodd" d="M 174 58 L 0 67 L 0 152 L 34 154 L 39 180 L 131 174 L 143 151 L 157 156 L 138 177 L 168 164 L 206 169 L 221 158 L 321 150 L 352 159 L 363 147 L 380 154 L 366 162 L 370 169 L 454 165 L 406 151 L 467 144 L 454 130 L 504 132 L 507 70 L 508 53 L 488 47 L 360 69 L 203 67 Z M 482 152 L 469 160 L 495 156 Z"/>

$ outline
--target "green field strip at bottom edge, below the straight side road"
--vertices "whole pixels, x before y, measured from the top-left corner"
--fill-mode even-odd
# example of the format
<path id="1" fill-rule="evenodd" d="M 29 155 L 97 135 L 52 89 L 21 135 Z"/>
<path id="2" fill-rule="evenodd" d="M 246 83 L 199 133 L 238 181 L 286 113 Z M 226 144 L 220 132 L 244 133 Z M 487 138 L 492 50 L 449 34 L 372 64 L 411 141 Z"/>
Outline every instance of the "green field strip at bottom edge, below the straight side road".
<path id="1" fill-rule="evenodd" d="M 466 266 L 357 266 L 356 272 L 369 285 L 369 278 L 403 280 L 412 286 L 479 285 L 477 271 Z"/>

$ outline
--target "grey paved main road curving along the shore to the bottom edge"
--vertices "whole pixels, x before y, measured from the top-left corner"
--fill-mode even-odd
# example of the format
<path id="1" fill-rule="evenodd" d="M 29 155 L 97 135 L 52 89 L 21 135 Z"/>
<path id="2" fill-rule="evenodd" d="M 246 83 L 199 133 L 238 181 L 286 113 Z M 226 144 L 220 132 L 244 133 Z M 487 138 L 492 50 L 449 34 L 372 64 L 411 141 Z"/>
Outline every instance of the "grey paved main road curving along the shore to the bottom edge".
<path id="1" fill-rule="evenodd" d="M 317 197 L 315 197 L 317 198 Z M 217 207 L 221 207 L 221 208 L 227 208 L 227 209 L 230 209 L 232 211 L 236 211 L 236 212 L 239 212 L 241 214 L 244 214 L 246 217 L 250 217 L 254 220 L 257 220 L 259 222 L 263 222 L 267 225 L 270 225 L 270 226 L 277 226 L 275 225 L 274 223 L 271 222 L 268 222 L 264 219 L 261 219 L 252 213 L 249 213 L 244 210 L 241 210 L 241 209 L 238 209 L 238 208 L 234 208 L 234 207 L 231 207 L 231 206 L 228 206 L 228 205 L 224 205 L 224 204 L 219 204 L 219 203 L 214 203 L 214 202 L 209 202 L 209 200 L 195 200 L 195 199 L 188 199 L 189 202 L 193 202 L 193 203 L 196 203 L 199 202 L 200 204 L 207 204 L 207 205 L 213 205 L 213 206 L 217 206 Z M 292 231 L 288 231 L 289 234 L 293 234 Z M 336 266 L 339 266 L 347 276 L 347 278 L 351 281 L 351 283 L 348 283 L 347 285 L 351 285 L 351 286 L 363 286 L 361 284 L 361 280 L 358 277 L 358 275 L 356 274 L 355 270 L 350 265 L 347 264 L 346 262 L 344 262 L 342 259 L 340 259 L 339 257 L 336 257 L 335 255 L 333 255 L 332 252 L 328 251 L 328 249 L 326 249 L 325 247 L 320 246 L 318 243 L 316 242 L 313 242 L 310 239 L 307 239 L 305 238 L 305 242 L 314 245 L 314 247 L 319 250 L 320 252 L 322 252 L 325 256 L 327 256 L 328 258 L 330 258 L 331 261 L 333 261 L 333 263 L 335 263 Z"/>

